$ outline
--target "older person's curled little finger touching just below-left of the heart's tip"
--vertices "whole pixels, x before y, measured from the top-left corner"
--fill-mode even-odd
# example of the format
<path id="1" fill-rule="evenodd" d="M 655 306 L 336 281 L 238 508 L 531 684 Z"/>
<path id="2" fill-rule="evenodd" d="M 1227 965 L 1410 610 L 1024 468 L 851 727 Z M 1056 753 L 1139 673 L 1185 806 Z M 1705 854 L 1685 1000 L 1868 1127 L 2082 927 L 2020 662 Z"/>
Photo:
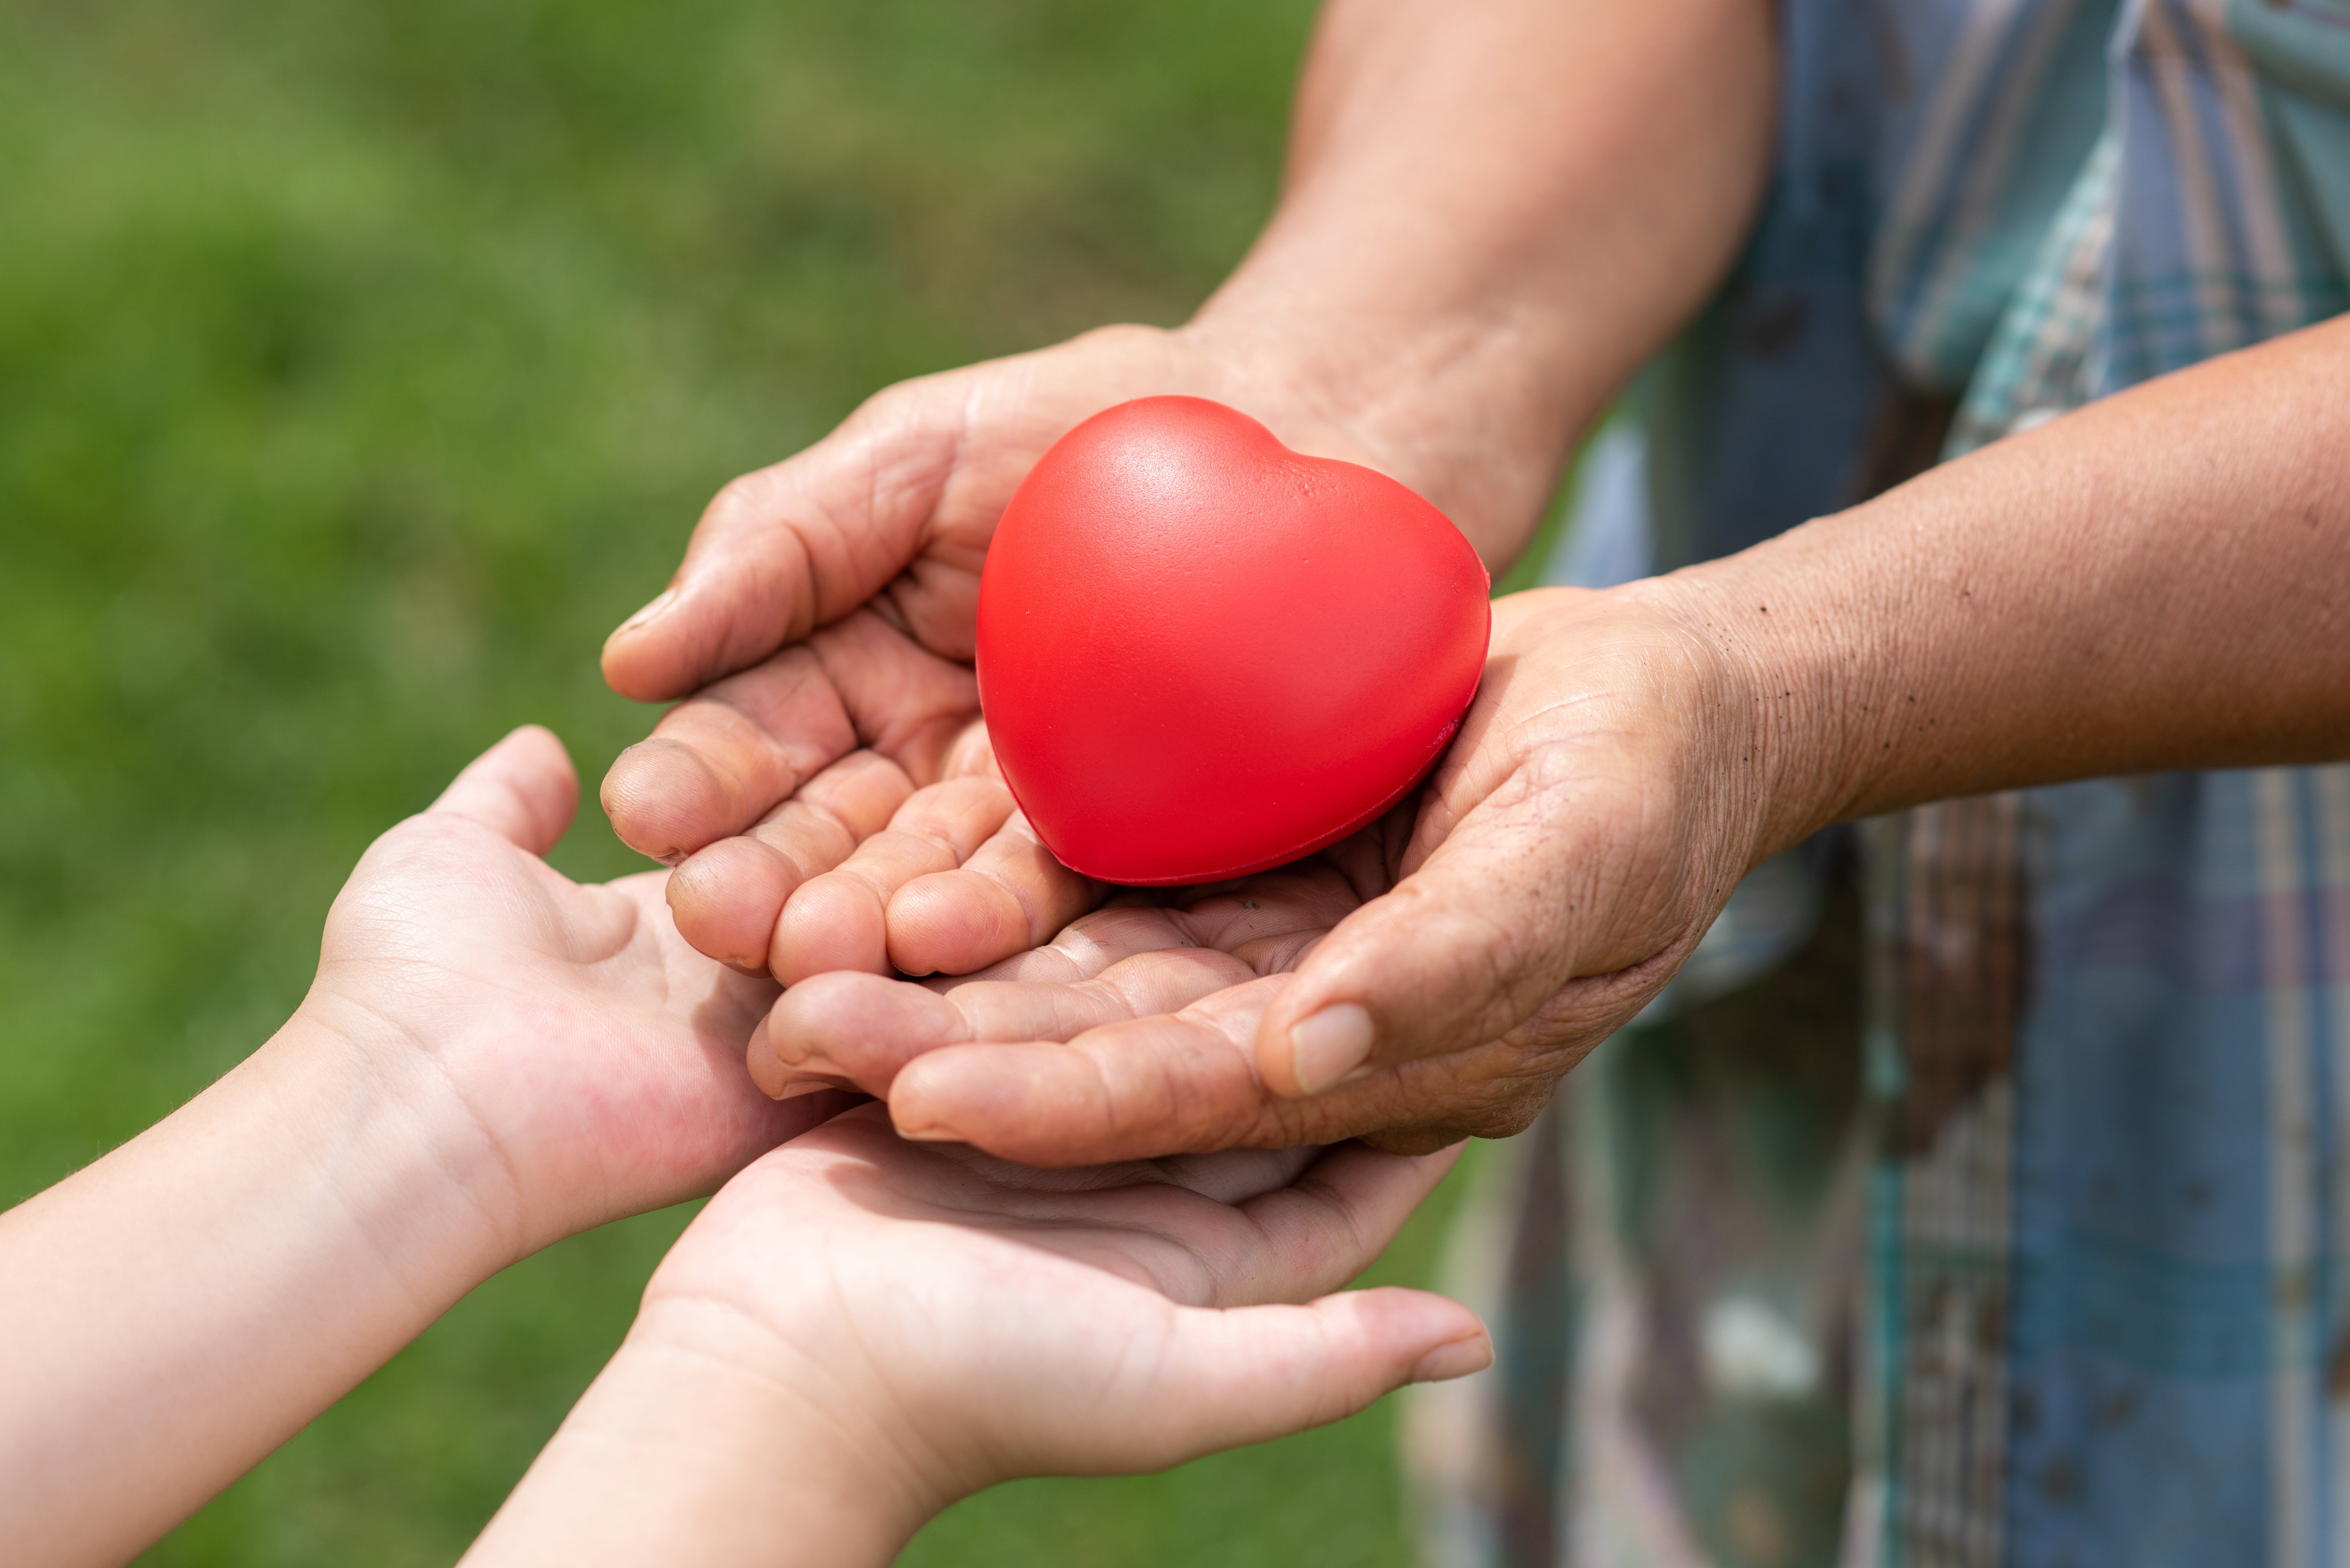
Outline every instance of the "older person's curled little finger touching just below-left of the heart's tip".
<path id="1" fill-rule="evenodd" d="M 1104 886 L 1053 858 L 1013 813 L 959 867 L 914 877 L 888 900 L 888 957 L 909 976 L 968 976 L 1034 947 L 1102 900 Z"/>

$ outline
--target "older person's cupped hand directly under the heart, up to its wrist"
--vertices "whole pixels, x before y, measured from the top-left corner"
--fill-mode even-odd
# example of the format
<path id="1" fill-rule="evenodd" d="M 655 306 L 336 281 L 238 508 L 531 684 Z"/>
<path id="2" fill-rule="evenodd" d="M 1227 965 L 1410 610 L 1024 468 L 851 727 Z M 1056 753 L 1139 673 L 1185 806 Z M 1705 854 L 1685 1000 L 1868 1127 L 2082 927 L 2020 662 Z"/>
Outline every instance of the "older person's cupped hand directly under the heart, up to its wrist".
<path id="1" fill-rule="evenodd" d="M 907 1135 L 1039 1164 L 1518 1131 L 1774 846 L 1760 712 L 1746 665 L 1664 599 L 1513 595 L 1452 750 L 1370 832 L 1238 884 L 1121 893 L 966 980 L 806 978 L 752 1072 L 771 1093 L 853 1084 Z M 888 952 L 1018 945 L 1001 912 L 1032 886 L 1006 863 L 1034 870 L 992 839 L 905 882 Z"/>

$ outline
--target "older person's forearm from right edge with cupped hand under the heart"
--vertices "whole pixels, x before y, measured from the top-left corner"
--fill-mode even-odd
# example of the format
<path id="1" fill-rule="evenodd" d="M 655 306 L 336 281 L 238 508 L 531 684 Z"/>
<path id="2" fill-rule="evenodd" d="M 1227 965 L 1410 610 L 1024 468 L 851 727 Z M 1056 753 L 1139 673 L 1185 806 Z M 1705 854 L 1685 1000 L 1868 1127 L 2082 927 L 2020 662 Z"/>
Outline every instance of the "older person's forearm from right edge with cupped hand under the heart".
<path id="1" fill-rule="evenodd" d="M 1504 599 L 1422 792 L 1262 877 L 1093 910 L 966 733 L 956 778 L 841 827 L 785 898 L 719 846 L 672 905 L 700 943 L 731 907 L 771 933 L 761 1086 L 855 1084 L 909 1135 L 1079 1164 L 1509 1133 L 1826 823 L 2338 755 L 2341 409 L 2350 329 L 2317 327 L 1739 557 Z"/>

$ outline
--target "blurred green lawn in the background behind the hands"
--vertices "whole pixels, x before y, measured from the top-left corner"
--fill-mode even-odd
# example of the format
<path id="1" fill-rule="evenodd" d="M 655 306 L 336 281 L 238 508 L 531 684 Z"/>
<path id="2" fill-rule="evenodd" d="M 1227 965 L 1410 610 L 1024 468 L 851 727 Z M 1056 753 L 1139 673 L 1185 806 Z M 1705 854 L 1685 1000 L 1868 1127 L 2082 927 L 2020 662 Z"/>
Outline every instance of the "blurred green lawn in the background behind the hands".
<path id="1" fill-rule="evenodd" d="M 1180 320 L 1307 0 L 0 0 L 0 1204 L 294 1006 L 367 839 L 552 724 L 703 498 L 886 381 Z M 557 863 L 632 870 L 590 811 Z M 449 1561 L 684 1213 L 484 1286 L 153 1563 Z M 1384 1274 L 1422 1276 L 1436 1215 Z M 1398 1563 L 1389 1415 L 919 1563 Z"/>

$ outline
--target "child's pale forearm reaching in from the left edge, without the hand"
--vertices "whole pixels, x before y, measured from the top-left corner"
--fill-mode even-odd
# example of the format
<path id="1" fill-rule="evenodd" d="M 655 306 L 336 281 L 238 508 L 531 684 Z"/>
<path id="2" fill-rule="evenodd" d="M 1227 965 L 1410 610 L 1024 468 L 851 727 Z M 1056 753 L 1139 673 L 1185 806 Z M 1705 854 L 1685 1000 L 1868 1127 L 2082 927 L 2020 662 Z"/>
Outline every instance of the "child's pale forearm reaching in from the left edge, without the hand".
<path id="1" fill-rule="evenodd" d="M 496 1150 L 303 1018 L 0 1215 L 0 1561 L 115 1563 L 508 1262 Z"/>

